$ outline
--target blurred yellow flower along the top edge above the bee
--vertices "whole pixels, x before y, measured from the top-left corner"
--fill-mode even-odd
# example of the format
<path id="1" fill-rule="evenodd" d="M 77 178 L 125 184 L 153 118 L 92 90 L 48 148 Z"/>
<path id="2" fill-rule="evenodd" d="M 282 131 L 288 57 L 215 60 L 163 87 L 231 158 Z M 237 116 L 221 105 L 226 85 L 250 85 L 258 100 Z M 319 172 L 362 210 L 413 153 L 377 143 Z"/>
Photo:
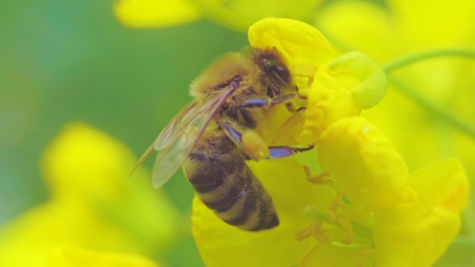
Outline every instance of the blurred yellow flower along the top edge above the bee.
<path id="1" fill-rule="evenodd" d="M 236 31 L 247 31 L 265 17 L 309 19 L 322 0 L 118 0 L 117 19 L 131 28 L 169 27 L 204 18 Z"/>

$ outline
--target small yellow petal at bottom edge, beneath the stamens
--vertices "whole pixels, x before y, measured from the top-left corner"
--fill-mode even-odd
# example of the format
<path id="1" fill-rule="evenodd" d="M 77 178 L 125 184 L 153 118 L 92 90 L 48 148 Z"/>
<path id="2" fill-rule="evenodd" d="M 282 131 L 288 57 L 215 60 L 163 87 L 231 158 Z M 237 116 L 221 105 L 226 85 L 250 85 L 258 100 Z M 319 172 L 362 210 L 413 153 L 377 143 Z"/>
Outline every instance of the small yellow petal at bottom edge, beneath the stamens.
<path id="1" fill-rule="evenodd" d="M 374 266 L 374 261 L 365 255 L 368 250 L 364 246 L 342 247 L 320 243 L 308 252 L 299 267 Z"/>

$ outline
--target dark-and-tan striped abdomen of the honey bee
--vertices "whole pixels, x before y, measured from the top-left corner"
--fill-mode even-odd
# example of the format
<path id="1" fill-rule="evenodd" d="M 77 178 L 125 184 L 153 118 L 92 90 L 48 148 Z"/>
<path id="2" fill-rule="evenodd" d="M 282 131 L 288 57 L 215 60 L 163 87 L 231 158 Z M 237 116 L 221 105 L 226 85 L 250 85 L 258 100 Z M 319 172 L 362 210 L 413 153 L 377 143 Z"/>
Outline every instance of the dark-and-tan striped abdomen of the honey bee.
<path id="1" fill-rule="evenodd" d="M 183 170 L 204 205 L 225 223 L 247 231 L 278 225 L 272 198 L 222 130 L 201 138 Z"/>

